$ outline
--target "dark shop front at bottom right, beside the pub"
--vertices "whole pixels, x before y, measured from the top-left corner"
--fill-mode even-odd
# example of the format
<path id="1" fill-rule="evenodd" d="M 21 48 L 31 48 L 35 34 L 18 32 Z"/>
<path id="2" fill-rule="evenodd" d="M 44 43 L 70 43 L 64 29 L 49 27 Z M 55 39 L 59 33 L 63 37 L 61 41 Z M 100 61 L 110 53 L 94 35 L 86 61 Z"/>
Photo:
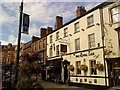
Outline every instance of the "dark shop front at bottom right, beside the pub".
<path id="1" fill-rule="evenodd" d="M 108 77 L 110 87 L 120 85 L 120 57 L 108 58 Z"/>

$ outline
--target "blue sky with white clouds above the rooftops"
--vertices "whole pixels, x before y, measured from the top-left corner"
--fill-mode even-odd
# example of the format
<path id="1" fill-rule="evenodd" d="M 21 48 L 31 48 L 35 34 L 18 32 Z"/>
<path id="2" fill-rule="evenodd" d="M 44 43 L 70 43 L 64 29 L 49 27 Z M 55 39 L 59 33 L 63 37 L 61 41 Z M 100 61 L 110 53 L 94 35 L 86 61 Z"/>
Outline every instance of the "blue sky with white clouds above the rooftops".
<path id="1" fill-rule="evenodd" d="M 62 16 L 63 24 L 76 17 L 77 6 L 90 10 L 106 0 L 24 0 L 23 12 L 30 15 L 29 34 L 21 34 L 26 43 L 32 36 L 40 37 L 40 28 L 50 26 L 54 30 L 55 17 Z M 17 45 L 19 28 L 19 6 L 21 0 L 0 1 L 0 42 L 2 45 Z"/>

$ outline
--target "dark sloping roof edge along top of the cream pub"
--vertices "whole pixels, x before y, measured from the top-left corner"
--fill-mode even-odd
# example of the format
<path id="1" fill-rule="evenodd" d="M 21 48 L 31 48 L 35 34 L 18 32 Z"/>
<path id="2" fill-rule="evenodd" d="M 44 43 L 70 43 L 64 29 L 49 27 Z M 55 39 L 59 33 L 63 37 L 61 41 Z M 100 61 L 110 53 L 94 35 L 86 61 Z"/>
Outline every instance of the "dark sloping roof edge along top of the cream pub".
<path id="1" fill-rule="evenodd" d="M 103 7 L 105 7 L 105 6 L 109 5 L 109 4 L 112 4 L 112 3 L 114 3 L 114 2 L 103 2 L 103 3 L 99 4 L 99 5 L 97 5 L 96 7 L 90 9 L 89 11 L 87 11 L 86 13 L 84 13 L 83 15 L 78 16 L 78 17 L 72 19 L 71 21 L 65 23 L 64 25 L 60 26 L 59 28 L 53 30 L 51 33 L 53 33 L 53 32 L 55 32 L 55 31 L 57 31 L 57 30 L 63 28 L 64 26 L 66 26 L 66 25 L 68 25 L 68 24 L 70 24 L 70 23 L 72 23 L 72 22 L 74 22 L 74 21 L 76 21 L 76 20 L 78 20 L 78 19 L 84 17 L 85 15 L 91 13 L 92 11 L 94 11 L 94 10 L 96 10 L 96 9 L 98 9 L 98 8 L 103 8 Z M 51 34 L 51 33 L 49 33 L 49 34 Z M 49 34 L 47 34 L 47 35 L 49 35 Z"/>

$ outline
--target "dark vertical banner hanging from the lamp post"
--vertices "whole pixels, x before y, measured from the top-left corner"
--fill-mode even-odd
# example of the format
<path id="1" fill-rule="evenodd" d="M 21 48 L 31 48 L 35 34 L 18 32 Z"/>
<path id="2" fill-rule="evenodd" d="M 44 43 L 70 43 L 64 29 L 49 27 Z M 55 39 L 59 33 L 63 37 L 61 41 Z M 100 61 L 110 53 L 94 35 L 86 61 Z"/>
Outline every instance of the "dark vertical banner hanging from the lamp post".
<path id="1" fill-rule="evenodd" d="M 22 33 L 28 34 L 29 30 L 29 15 L 23 13 L 23 30 Z"/>

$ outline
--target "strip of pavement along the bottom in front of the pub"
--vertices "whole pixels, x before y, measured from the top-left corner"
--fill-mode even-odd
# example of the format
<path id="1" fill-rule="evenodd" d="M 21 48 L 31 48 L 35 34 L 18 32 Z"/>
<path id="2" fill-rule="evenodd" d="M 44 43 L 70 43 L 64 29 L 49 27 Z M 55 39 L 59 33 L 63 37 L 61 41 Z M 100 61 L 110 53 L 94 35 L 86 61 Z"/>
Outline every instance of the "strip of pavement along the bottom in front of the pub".
<path id="1" fill-rule="evenodd" d="M 53 90 L 56 88 L 62 89 L 62 90 L 93 90 L 93 89 L 87 89 L 83 87 L 76 87 L 76 86 L 68 86 L 64 84 L 56 84 L 54 82 L 47 82 L 47 81 L 41 81 L 41 85 L 44 87 L 44 90 Z"/>

